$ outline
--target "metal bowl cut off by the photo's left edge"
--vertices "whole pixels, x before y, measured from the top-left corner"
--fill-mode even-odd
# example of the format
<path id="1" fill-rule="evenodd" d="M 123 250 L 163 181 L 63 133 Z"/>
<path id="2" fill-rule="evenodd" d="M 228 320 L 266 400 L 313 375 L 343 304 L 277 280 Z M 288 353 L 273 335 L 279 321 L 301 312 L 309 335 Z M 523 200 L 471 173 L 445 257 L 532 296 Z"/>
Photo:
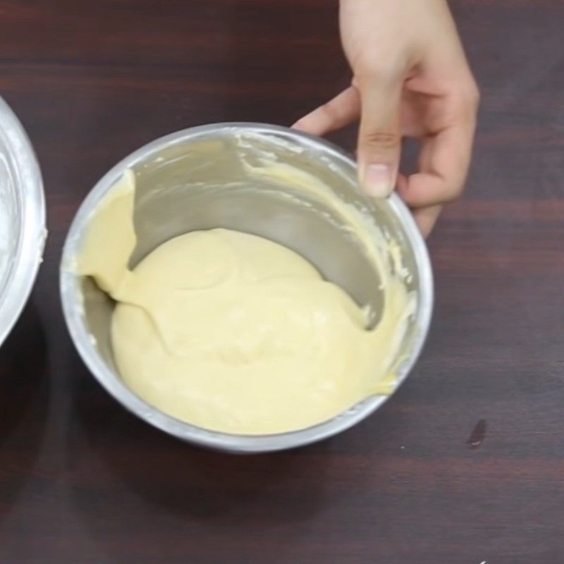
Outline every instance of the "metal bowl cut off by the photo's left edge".
<path id="1" fill-rule="evenodd" d="M 0 98 L 0 345 L 30 294 L 46 235 L 35 153 L 18 118 Z"/>

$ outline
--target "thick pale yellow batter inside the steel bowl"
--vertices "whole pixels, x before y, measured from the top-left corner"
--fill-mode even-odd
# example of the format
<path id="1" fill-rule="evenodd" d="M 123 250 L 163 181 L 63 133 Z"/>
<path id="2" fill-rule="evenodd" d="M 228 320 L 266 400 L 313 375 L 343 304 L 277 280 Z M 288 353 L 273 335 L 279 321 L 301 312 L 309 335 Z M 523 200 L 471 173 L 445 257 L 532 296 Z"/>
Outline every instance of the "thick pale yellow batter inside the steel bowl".
<path id="1" fill-rule="evenodd" d="M 185 422 L 273 434 L 390 393 L 407 290 L 387 280 L 375 329 L 295 252 L 215 229 L 173 238 L 127 269 L 133 173 L 91 221 L 78 264 L 118 301 L 111 338 L 124 381 Z M 104 244 L 105 242 L 105 244 Z"/>

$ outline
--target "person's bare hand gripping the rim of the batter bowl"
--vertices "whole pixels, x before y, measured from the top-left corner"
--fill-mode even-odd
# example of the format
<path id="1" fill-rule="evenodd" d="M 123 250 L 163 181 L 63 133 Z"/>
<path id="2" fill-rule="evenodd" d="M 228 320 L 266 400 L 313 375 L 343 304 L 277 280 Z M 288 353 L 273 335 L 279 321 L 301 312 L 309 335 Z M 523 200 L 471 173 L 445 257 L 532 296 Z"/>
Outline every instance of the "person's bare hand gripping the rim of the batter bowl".
<path id="1" fill-rule="evenodd" d="M 464 187 L 479 94 L 446 0 L 341 0 L 341 40 L 353 83 L 294 124 L 325 135 L 360 118 L 360 182 L 394 188 L 428 235 Z M 401 142 L 420 142 L 418 170 L 398 172 Z"/>

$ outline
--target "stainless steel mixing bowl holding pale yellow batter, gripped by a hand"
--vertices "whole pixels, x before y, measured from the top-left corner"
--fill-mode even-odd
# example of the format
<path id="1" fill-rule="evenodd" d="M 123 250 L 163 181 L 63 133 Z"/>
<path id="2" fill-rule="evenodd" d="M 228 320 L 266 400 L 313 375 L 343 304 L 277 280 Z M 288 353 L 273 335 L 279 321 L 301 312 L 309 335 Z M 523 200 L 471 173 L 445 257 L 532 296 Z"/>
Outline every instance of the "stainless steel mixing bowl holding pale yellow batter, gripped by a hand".
<path id="1" fill-rule="evenodd" d="M 262 235 L 298 251 L 324 276 L 360 304 L 381 304 L 379 278 L 352 237 L 336 224 L 331 209 L 281 198 L 285 187 L 251 178 L 242 161 L 275 155 L 279 162 L 312 173 L 342 200 L 363 209 L 393 235 L 411 276 L 417 305 L 400 347 L 398 384 L 422 348 L 432 307 L 432 278 L 424 241 L 410 212 L 396 195 L 374 202 L 357 185 L 355 163 L 340 149 L 314 137 L 273 125 L 226 123 L 173 133 L 149 143 L 111 169 L 75 216 L 61 262 L 61 296 L 73 341 L 92 374 L 116 400 L 166 433 L 230 452 L 281 450 L 319 441 L 353 426 L 387 396 L 374 396 L 315 427 L 269 436 L 235 436 L 194 427 L 169 417 L 130 391 L 116 370 L 109 334 L 114 303 L 90 278 L 73 272 L 87 223 L 127 168 L 136 177 L 134 266 L 164 241 L 181 233 L 215 227 Z M 376 353 L 376 352 L 375 352 Z"/>

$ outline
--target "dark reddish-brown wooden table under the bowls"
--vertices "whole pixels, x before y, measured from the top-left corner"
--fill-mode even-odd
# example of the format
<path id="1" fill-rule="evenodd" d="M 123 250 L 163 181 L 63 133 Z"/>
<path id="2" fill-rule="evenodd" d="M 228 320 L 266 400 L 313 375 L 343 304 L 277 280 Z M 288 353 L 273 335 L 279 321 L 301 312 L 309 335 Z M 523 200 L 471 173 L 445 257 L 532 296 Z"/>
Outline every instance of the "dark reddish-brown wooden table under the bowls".
<path id="1" fill-rule="evenodd" d="M 0 350 L 1 564 L 564 562 L 564 2 L 453 9 L 483 104 L 467 193 L 429 241 L 427 348 L 355 429 L 241 458 L 102 391 L 63 325 L 61 245 L 95 181 L 154 137 L 288 124 L 338 92 L 336 3 L 0 0 L 0 93 L 50 228 Z"/>

